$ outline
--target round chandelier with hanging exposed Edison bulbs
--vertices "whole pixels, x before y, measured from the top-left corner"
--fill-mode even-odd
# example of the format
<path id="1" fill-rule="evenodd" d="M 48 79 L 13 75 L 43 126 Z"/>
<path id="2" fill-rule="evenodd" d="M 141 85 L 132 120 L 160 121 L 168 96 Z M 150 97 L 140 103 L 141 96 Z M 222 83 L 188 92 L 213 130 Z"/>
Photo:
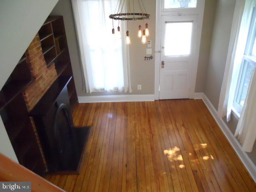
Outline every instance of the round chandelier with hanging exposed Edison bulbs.
<path id="1" fill-rule="evenodd" d="M 138 38 L 141 38 L 142 44 L 146 44 L 147 37 L 149 36 L 149 30 L 148 30 L 148 24 L 146 23 L 144 25 L 144 19 L 150 19 L 150 14 L 146 13 L 146 8 L 142 0 L 138 0 L 140 13 L 134 12 L 134 0 L 132 0 L 132 9 L 130 6 L 130 0 L 128 0 L 128 13 L 123 13 L 122 11 L 125 6 L 125 3 L 126 3 L 126 0 L 118 0 L 114 14 L 110 14 L 109 16 L 109 18 L 112 19 L 112 25 L 113 25 L 112 34 L 113 35 L 115 34 L 114 20 L 118 20 L 118 27 L 117 27 L 118 37 L 122 38 L 119 21 L 126 20 L 126 23 L 127 23 L 126 45 L 130 45 L 131 40 L 129 36 L 129 31 L 128 31 L 128 21 L 143 20 L 143 31 L 142 31 L 142 26 L 139 25 Z"/>

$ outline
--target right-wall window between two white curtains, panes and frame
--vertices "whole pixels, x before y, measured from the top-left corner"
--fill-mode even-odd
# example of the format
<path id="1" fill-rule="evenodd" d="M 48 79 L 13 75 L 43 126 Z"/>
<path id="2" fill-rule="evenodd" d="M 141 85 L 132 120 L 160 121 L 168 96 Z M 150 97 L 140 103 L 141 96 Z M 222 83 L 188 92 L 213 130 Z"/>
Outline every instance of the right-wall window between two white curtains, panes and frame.
<path id="1" fill-rule="evenodd" d="M 234 98 L 234 110 L 241 113 L 252 74 L 256 66 L 256 11 L 254 9 L 248 33 L 246 49 L 240 67 L 240 74 Z"/>

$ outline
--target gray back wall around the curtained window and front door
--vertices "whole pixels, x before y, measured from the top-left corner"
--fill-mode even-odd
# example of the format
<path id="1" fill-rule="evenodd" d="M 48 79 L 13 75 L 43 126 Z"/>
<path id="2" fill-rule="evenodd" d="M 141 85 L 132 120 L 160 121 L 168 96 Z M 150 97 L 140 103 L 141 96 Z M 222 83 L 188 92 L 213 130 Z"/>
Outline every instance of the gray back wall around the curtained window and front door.
<path id="1" fill-rule="evenodd" d="M 138 8 L 137 1 L 134 1 L 135 8 Z M 206 79 L 206 70 L 208 66 L 208 57 L 210 52 L 210 42 L 214 21 L 214 13 L 216 0 L 206 0 L 204 11 L 204 22 L 202 28 L 202 39 L 200 46 L 198 75 L 196 80 L 196 92 L 203 92 Z M 155 17 L 156 17 L 156 1 L 148 0 L 146 4 L 147 12 L 151 15 L 150 20 L 147 20 L 150 28 L 150 40 L 152 40 L 152 56 L 155 56 Z M 51 15 L 62 15 L 66 28 L 68 48 L 76 91 L 78 96 L 94 96 L 94 95 L 112 95 L 112 94 L 129 94 L 123 92 L 94 92 L 87 94 L 83 92 L 82 76 L 80 69 L 80 60 L 78 55 L 78 43 L 76 38 L 76 30 L 74 26 L 74 16 L 72 12 L 71 0 L 59 0 Z M 137 38 L 139 22 L 130 22 L 129 31 L 132 40 L 130 47 L 130 75 L 132 84 L 131 94 L 154 94 L 154 59 L 144 61 L 146 55 L 146 45 L 142 45 Z M 142 85 L 142 90 L 137 90 L 137 85 Z"/>

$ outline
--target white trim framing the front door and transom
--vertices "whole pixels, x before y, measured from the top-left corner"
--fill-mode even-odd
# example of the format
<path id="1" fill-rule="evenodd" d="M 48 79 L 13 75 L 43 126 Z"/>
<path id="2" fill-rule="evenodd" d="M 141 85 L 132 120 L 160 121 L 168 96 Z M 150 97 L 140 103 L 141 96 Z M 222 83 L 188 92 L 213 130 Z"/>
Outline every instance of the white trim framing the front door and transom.
<path id="1" fill-rule="evenodd" d="M 155 90 L 154 90 L 154 98 L 155 100 L 159 100 L 159 81 L 160 81 L 160 45 L 161 45 L 161 16 L 163 15 L 188 15 L 188 14 L 197 14 L 198 15 L 198 24 L 197 24 L 197 31 L 196 31 L 196 41 L 195 41 L 195 52 L 194 52 L 194 63 L 192 66 L 192 77 L 190 82 L 190 98 L 194 98 L 195 87 L 196 87 L 196 74 L 198 68 L 198 58 L 199 58 L 199 51 L 200 51 L 200 43 L 201 43 L 201 34 L 202 34 L 202 24 L 203 24 L 203 17 L 204 17 L 204 3 L 205 0 L 197 0 L 198 7 L 196 9 L 189 9 L 191 10 L 188 12 L 188 9 L 184 9 L 185 11 L 182 12 L 181 9 L 172 9 L 171 12 L 162 12 L 162 1 L 163 0 L 156 0 L 156 47 L 155 47 Z"/>

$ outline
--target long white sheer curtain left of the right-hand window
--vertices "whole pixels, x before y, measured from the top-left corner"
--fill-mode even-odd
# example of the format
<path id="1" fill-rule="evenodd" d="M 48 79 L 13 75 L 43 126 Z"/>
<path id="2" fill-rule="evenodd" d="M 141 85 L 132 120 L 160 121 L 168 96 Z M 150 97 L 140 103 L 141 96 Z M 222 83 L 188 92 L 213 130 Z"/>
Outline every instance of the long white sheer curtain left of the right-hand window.
<path id="1" fill-rule="evenodd" d="M 220 92 L 218 117 L 230 120 L 240 65 L 246 47 L 254 0 L 237 0 L 233 16 L 228 56 Z"/>

